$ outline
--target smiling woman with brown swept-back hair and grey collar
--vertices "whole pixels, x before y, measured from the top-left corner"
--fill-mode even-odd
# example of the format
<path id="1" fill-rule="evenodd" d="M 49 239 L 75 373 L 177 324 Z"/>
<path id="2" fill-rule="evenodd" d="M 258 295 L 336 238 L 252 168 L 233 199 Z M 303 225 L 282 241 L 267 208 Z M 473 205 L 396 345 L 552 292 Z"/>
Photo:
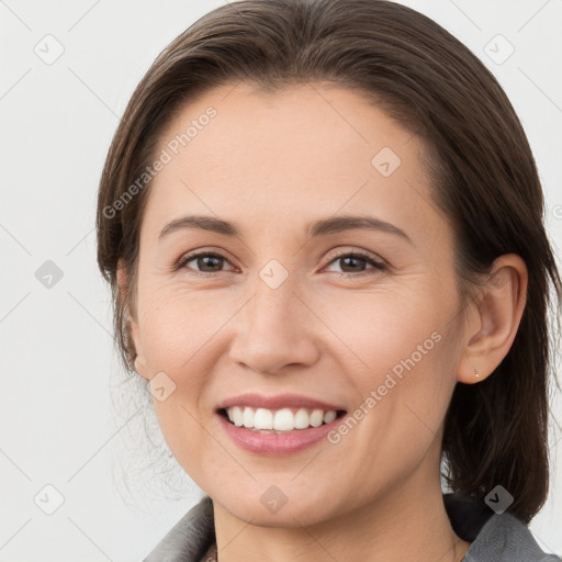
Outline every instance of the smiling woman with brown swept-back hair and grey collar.
<path id="1" fill-rule="evenodd" d="M 505 93 L 414 10 L 244 0 L 173 41 L 98 205 L 124 364 L 205 492 L 146 560 L 559 560 L 542 211 Z"/>

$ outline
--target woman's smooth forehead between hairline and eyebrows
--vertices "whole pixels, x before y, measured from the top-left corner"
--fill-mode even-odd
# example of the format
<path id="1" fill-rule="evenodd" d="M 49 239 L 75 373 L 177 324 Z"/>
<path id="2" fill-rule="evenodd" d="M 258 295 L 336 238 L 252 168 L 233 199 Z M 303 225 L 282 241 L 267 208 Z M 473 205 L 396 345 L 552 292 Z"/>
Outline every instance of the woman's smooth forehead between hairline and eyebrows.
<path id="1" fill-rule="evenodd" d="M 166 154 L 167 164 L 150 183 L 146 218 L 156 227 L 188 210 L 236 220 L 244 210 L 254 222 L 294 226 L 370 211 L 427 229 L 439 217 L 422 151 L 416 136 L 350 90 L 229 85 L 182 108 L 161 133 L 155 157 Z"/>

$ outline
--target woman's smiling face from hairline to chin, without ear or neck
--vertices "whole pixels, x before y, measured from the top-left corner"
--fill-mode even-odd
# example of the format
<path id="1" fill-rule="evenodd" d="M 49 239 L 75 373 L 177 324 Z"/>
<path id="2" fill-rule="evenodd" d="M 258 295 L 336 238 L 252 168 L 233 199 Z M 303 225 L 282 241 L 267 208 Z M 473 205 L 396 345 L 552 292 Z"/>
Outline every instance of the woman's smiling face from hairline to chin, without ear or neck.
<path id="1" fill-rule="evenodd" d="M 133 336 L 139 372 L 158 376 L 154 404 L 179 463 L 231 514 L 269 526 L 437 490 L 463 325 L 452 232 L 430 199 L 420 140 L 326 85 L 213 90 L 160 140 Z M 187 216 L 237 234 L 168 227 Z M 341 216 L 366 221 L 310 232 Z M 194 256 L 204 252 L 214 257 Z M 283 435 L 267 434 L 266 448 L 217 412 L 245 393 L 346 414 L 329 432 L 294 429 L 286 442 L 299 447 L 276 452 Z"/>

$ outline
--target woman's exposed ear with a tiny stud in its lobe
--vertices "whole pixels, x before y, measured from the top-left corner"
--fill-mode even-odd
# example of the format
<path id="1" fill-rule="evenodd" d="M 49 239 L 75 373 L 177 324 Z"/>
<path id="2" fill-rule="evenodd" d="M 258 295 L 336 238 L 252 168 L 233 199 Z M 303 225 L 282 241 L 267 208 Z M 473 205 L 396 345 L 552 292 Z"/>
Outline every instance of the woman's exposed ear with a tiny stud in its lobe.
<path id="1" fill-rule="evenodd" d="M 506 254 L 494 261 L 482 297 L 474 303 L 465 325 L 468 341 L 457 375 L 459 382 L 483 381 L 503 361 L 519 327 L 527 284 L 527 266 L 519 256 Z"/>

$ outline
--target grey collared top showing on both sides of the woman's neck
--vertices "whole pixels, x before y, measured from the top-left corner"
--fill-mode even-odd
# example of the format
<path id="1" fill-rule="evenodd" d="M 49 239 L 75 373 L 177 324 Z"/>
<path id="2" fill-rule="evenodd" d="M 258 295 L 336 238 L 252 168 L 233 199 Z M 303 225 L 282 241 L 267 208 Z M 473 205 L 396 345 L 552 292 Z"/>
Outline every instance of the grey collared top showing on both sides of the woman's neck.
<path id="1" fill-rule="evenodd" d="M 562 562 L 546 554 L 515 516 L 494 514 L 486 504 L 458 494 L 445 494 L 443 501 L 454 532 L 471 542 L 462 562 Z M 213 504 L 204 496 L 143 562 L 201 562 L 215 540 Z"/>

